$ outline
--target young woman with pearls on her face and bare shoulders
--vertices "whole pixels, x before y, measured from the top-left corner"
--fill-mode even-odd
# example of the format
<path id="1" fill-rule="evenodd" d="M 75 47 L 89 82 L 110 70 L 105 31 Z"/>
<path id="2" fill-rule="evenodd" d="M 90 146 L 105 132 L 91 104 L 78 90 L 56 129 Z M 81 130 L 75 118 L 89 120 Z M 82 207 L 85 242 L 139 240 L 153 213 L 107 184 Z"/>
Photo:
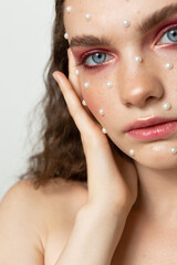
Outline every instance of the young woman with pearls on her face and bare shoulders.
<path id="1" fill-rule="evenodd" d="M 175 265 L 177 2 L 55 10 L 44 149 L 0 204 L 0 264 Z"/>

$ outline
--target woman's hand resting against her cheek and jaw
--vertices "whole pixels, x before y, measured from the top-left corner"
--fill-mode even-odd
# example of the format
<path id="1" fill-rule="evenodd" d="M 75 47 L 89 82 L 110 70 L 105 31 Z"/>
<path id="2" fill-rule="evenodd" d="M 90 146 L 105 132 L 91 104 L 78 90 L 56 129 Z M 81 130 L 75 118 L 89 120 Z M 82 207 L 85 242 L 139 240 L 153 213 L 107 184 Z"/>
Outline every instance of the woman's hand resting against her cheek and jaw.
<path id="1" fill-rule="evenodd" d="M 95 209 L 106 213 L 118 214 L 119 209 L 127 213 L 137 198 L 137 171 L 132 161 L 121 157 L 111 147 L 101 126 L 95 123 L 90 112 L 82 105 L 75 87 L 79 88 L 75 75 L 75 62 L 69 50 L 69 80 L 61 72 L 54 72 L 64 96 L 69 112 L 81 132 L 81 139 L 87 165 L 88 201 L 81 209 Z"/>

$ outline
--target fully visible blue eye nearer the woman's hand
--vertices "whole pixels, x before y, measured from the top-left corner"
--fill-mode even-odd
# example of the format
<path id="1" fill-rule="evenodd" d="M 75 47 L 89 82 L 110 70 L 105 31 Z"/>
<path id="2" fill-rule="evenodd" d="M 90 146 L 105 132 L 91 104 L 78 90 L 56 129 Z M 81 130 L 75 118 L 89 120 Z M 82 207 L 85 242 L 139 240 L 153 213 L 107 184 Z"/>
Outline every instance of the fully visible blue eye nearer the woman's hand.
<path id="1" fill-rule="evenodd" d="M 94 53 L 86 57 L 85 63 L 90 66 L 103 64 L 111 60 L 113 56 L 106 53 Z"/>

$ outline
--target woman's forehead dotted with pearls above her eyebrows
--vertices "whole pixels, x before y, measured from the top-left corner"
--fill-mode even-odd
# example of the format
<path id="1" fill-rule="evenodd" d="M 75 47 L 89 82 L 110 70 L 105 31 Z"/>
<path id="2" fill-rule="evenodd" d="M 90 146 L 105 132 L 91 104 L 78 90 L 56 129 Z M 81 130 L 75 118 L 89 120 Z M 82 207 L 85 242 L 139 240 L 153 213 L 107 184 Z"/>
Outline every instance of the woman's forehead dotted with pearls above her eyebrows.
<path id="1" fill-rule="evenodd" d="M 66 0 L 64 3 L 64 24 L 70 35 L 97 34 L 108 30 L 118 31 L 123 20 L 129 20 L 133 28 L 156 10 L 176 0 Z M 71 12 L 65 11 L 71 7 Z M 85 14 L 92 14 L 86 21 Z M 133 29 L 132 28 L 132 29 Z"/>

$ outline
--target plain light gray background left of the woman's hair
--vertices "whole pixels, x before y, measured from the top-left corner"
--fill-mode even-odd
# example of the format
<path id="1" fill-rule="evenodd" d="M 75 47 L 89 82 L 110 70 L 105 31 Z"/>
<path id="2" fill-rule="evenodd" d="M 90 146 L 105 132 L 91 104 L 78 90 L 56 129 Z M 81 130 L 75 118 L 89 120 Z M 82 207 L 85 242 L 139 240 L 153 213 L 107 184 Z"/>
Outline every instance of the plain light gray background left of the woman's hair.
<path id="1" fill-rule="evenodd" d="M 0 0 L 0 200 L 27 167 L 28 117 L 44 93 L 53 19 L 54 0 Z"/>

